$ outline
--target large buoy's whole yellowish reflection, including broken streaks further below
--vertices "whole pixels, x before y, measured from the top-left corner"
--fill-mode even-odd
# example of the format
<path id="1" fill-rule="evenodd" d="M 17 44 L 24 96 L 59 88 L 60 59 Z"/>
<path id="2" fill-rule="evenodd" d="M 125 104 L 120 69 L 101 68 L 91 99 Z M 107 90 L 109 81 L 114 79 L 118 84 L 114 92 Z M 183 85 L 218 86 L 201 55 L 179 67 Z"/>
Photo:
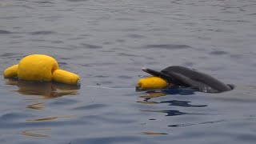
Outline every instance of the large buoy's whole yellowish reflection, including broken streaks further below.
<path id="1" fill-rule="evenodd" d="M 18 94 L 37 96 L 37 98 L 26 98 L 25 100 L 29 100 L 31 102 L 26 108 L 30 110 L 45 110 L 46 102 L 38 102 L 41 99 L 51 99 L 58 98 L 65 95 L 75 95 L 78 94 L 78 90 L 80 86 L 74 85 L 66 85 L 57 82 L 34 82 L 34 81 L 22 81 L 18 79 L 6 79 L 6 85 L 18 86 L 18 90 L 14 90 L 18 92 Z M 72 118 L 74 115 L 64 115 L 64 116 L 35 116 L 39 118 L 26 118 L 26 122 L 49 122 L 49 121 L 58 121 L 60 118 Z M 41 117 L 41 118 L 40 118 Z M 44 117 L 44 118 L 42 118 Z M 50 128 L 46 129 L 32 129 L 32 130 L 22 130 L 19 134 L 30 136 L 30 137 L 50 137 L 46 134 L 38 134 L 38 131 L 49 131 Z"/>

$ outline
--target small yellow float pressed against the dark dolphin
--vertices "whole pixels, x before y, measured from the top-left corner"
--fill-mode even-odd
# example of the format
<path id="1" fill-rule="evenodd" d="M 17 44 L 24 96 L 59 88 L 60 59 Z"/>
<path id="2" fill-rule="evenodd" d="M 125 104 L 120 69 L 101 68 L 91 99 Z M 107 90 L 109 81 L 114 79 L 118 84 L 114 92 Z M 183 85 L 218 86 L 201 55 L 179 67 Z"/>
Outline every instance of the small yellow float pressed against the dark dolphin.
<path id="1" fill-rule="evenodd" d="M 147 77 L 141 78 L 137 82 L 138 90 L 146 89 L 165 89 L 167 87 L 167 82 L 159 77 Z"/>

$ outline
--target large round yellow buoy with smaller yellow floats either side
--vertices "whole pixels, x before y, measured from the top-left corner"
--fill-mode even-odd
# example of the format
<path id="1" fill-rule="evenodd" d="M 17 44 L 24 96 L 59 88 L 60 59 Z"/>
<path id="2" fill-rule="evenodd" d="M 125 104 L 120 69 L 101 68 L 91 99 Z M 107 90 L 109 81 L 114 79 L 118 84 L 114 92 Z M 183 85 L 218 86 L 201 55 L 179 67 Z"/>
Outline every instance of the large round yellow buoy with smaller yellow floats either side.
<path id="1" fill-rule="evenodd" d="M 58 69 L 58 62 L 44 54 L 28 55 L 18 63 L 4 71 L 5 78 L 15 78 L 30 81 L 54 81 L 70 85 L 79 84 L 77 74 Z"/>

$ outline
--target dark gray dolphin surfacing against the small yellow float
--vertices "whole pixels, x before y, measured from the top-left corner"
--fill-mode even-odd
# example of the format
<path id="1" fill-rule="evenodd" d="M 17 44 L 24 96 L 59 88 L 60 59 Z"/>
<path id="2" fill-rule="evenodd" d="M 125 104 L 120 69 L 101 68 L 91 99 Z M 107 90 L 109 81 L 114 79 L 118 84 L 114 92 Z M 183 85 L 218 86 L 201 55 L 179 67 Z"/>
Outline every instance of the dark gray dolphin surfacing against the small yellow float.
<path id="1" fill-rule="evenodd" d="M 142 68 L 148 74 L 165 79 L 174 86 L 190 87 L 206 93 L 221 93 L 232 90 L 233 86 L 227 85 L 208 74 L 191 70 L 183 66 L 169 66 L 160 72 Z"/>

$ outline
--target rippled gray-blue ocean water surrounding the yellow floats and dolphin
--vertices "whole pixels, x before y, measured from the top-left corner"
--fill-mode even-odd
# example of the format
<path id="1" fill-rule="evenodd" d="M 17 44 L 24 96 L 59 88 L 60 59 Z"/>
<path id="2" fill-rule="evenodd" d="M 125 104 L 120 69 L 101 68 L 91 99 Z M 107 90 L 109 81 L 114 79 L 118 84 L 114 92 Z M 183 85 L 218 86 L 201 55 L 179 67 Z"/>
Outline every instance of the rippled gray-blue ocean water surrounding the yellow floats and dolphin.
<path id="1" fill-rule="evenodd" d="M 1 0 L 1 73 L 48 54 L 82 85 L 1 76 L 0 143 L 254 143 L 255 30 L 254 0 Z M 173 65 L 235 89 L 136 92 Z"/>

